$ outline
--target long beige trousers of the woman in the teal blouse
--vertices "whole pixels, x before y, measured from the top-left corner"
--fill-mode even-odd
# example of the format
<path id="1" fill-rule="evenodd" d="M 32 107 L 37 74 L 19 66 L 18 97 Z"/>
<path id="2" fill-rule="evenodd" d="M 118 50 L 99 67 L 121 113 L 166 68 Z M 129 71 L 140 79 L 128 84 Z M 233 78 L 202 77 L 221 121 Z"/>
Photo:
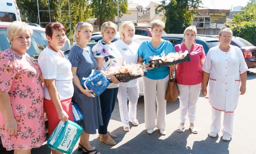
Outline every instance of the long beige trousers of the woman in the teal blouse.
<path id="1" fill-rule="evenodd" d="M 166 89 L 169 75 L 164 79 L 152 80 L 143 77 L 145 127 L 146 129 L 166 128 Z M 157 114 L 155 115 L 155 102 L 157 103 Z M 155 123 L 156 119 L 156 123 Z"/>

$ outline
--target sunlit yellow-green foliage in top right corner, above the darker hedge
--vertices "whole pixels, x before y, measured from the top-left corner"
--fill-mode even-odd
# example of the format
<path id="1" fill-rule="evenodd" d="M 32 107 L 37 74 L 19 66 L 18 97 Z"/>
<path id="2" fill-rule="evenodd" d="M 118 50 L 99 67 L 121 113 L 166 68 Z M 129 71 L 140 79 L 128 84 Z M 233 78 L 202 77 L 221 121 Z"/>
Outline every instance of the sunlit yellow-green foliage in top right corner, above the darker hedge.
<path id="1" fill-rule="evenodd" d="M 242 11 L 237 15 L 233 14 L 233 21 L 235 23 L 249 22 L 256 19 L 256 0 L 250 0 Z"/>

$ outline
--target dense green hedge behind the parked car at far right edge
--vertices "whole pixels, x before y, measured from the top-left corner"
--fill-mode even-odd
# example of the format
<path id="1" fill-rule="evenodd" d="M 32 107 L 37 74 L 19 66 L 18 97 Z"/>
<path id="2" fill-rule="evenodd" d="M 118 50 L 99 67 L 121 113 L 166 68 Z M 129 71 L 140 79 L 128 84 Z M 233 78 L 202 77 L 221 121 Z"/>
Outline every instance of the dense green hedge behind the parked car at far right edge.
<path id="1" fill-rule="evenodd" d="M 232 29 L 233 36 L 241 37 L 256 45 L 256 22 L 226 23 L 226 26 Z"/>

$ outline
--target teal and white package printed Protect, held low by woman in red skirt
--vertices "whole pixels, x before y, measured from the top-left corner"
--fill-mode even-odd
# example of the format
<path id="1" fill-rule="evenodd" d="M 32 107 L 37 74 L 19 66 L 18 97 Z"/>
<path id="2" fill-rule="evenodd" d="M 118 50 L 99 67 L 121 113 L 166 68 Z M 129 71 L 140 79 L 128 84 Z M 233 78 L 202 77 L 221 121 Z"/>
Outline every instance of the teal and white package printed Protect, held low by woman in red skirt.
<path id="1" fill-rule="evenodd" d="M 71 154 L 82 132 L 83 128 L 75 122 L 60 121 L 48 139 L 47 145 L 54 150 Z"/>

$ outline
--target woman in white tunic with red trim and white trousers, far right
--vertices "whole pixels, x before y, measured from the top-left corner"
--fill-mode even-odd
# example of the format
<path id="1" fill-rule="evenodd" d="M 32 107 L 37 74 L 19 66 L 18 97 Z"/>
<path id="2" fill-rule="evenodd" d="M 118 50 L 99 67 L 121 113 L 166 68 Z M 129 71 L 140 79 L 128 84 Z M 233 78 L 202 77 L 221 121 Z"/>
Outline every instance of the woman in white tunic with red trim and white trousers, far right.
<path id="1" fill-rule="evenodd" d="M 222 139 L 229 141 L 233 134 L 234 109 L 237 107 L 239 94 L 245 94 L 248 67 L 241 49 L 230 45 L 230 28 L 223 27 L 218 38 L 220 44 L 208 51 L 203 63 L 202 94 L 212 106 L 209 136 L 216 137 L 220 132 L 221 111 L 224 111 Z"/>

